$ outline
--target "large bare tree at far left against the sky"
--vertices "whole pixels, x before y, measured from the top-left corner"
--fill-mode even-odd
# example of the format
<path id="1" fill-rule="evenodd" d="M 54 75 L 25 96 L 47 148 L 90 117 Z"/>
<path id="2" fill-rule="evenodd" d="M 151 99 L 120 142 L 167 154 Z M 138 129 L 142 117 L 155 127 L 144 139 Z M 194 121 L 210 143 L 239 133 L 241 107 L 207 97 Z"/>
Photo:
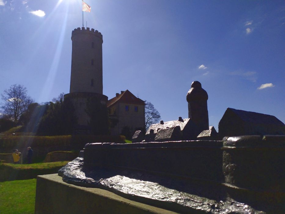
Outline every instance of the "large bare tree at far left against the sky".
<path id="1" fill-rule="evenodd" d="M 28 105 L 35 102 L 27 95 L 27 88 L 19 84 L 14 84 L 9 89 L 4 90 L 1 99 L 4 102 L 1 106 L 2 113 L 15 122 L 27 110 Z"/>

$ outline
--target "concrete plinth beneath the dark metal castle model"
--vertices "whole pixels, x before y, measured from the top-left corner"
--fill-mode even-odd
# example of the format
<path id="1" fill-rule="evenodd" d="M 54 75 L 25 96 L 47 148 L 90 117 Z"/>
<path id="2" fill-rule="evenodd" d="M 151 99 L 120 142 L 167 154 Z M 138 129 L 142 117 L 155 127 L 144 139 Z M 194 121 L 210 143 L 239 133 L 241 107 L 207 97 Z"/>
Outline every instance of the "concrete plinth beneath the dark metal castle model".
<path id="1" fill-rule="evenodd" d="M 176 213 L 128 200 L 107 190 L 75 186 L 57 174 L 37 177 L 35 214 Z"/>

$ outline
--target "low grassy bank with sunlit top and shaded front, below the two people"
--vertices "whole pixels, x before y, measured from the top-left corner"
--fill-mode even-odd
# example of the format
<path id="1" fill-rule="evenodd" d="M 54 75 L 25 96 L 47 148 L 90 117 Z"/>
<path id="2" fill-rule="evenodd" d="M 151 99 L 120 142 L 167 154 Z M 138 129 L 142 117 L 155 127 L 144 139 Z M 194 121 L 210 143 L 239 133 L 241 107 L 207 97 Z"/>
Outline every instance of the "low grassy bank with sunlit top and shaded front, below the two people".
<path id="1" fill-rule="evenodd" d="M 38 175 L 57 173 L 69 161 L 41 164 L 0 164 L 0 182 L 36 178 Z"/>

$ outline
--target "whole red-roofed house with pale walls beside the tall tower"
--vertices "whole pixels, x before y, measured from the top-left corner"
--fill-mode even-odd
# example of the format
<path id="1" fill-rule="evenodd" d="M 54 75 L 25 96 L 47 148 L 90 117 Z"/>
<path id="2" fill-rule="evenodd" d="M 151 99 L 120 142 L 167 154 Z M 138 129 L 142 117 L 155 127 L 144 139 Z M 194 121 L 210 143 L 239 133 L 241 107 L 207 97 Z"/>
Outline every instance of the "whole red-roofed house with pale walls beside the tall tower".
<path id="1" fill-rule="evenodd" d="M 129 90 L 116 93 L 116 96 L 108 100 L 107 108 L 109 118 L 117 121 L 111 127 L 111 135 L 119 135 L 124 127 L 133 133 L 144 127 L 144 101 L 137 98 Z"/>

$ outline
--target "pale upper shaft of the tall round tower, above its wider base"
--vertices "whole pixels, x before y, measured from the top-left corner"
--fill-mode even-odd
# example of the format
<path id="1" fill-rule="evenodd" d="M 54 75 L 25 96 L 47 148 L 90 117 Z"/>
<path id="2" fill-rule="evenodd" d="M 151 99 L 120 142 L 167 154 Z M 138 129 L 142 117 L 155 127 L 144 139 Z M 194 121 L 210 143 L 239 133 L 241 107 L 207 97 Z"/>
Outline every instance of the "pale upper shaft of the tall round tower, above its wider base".
<path id="1" fill-rule="evenodd" d="M 72 31 L 70 93 L 103 94 L 103 36 L 92 28 Z"/>

